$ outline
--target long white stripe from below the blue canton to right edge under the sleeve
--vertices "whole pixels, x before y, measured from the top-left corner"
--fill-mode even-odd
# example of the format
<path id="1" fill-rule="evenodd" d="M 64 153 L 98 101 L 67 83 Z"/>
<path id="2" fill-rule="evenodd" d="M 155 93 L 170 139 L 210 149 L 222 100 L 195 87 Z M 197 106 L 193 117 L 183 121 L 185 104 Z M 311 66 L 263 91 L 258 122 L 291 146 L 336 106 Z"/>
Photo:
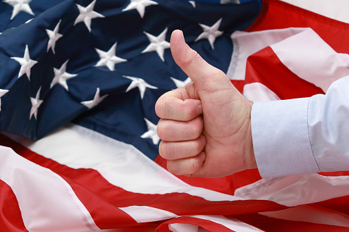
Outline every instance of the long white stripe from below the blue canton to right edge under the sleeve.
<path id="1" fill-rule="evenodd" d="M 61 164 L 72 168 L 95 168 L 113 185 L 136 193 L 184 192 L 208 201 L 261 199 L 287 206 L 315 203 L 349 194 L 349 177 L 324 177 L 317 174 L 261 179 L 237 189 L 234 196 L 192 187 L 133 146 L 77 125 L 64 127 L 37 142 L 18 140 L 32 151 Z M 124 149 L 121 149 L 123 146 Z"/>

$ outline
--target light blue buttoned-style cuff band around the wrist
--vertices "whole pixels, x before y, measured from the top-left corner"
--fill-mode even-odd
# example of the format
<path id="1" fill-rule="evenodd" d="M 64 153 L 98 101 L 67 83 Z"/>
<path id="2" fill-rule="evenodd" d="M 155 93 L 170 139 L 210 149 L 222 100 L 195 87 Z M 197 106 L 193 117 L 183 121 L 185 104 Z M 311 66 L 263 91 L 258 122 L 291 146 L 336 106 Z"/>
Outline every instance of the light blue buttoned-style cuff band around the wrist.
<path id="1" fill-rule="evenodd" d="M 309 140 L 308 103 L 309 98 L 253 104 L 252 140 L 261 177 L 320 172 Z"/>

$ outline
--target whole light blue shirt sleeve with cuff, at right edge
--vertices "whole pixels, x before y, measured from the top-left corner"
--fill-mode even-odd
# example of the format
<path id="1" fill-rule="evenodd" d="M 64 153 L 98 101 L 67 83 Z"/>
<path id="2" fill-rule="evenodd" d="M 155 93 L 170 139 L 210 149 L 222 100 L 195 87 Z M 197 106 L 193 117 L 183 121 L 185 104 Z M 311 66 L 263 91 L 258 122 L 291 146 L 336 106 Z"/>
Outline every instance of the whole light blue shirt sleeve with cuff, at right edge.
<path id="1" fill-rule="evenodd" d="M 252 106 L 254 155 L 263 178 L 349 170 L 349 76 L 326 95 Z"/>

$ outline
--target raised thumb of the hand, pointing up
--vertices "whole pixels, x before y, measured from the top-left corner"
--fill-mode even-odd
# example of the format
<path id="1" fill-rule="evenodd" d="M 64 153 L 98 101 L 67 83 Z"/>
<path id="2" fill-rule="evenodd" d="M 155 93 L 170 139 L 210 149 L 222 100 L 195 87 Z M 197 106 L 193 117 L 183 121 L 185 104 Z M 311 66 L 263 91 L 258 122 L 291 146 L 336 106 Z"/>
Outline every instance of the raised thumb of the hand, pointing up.
<path id="1" fill-rule="evenodd" d="M 205 98 L 208 93 L 226 89 L 227 86 L 234 88 L 224 72 L 208 64 L 186 44 L 182 31 L 172 32 L 170 44 L 173 59 L 193 80 L 200 99 Z"/>

